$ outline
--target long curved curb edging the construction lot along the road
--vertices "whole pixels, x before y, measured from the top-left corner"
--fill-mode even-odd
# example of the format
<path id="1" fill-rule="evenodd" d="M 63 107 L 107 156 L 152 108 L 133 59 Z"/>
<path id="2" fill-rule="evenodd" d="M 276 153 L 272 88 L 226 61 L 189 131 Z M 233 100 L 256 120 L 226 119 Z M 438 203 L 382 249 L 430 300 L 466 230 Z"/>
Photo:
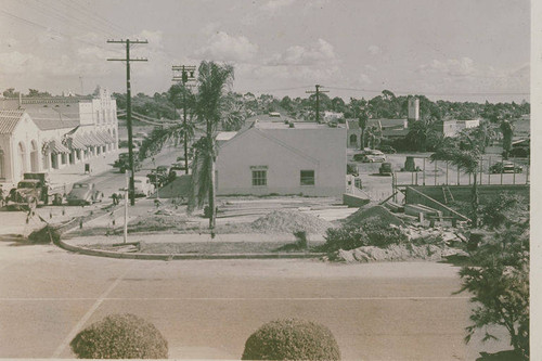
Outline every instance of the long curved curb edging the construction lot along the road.
<path id="1" fill-rule="evenodd" d="M 176 260 L 176 259 L 302 259 L 318 258 L 325 256 L 325 253 L 289 253 L 289 254 L 215 254 L 215 255 L 194 255 L 194 254 L 125 254 L 112 250 L 92 249 L 87 247 L 74 246 L 62 240 L 56 244 L 59 247 L 75 252 L 86 256 L 98 256 L 119 259 L 143 259 L 143 260 Z"/>

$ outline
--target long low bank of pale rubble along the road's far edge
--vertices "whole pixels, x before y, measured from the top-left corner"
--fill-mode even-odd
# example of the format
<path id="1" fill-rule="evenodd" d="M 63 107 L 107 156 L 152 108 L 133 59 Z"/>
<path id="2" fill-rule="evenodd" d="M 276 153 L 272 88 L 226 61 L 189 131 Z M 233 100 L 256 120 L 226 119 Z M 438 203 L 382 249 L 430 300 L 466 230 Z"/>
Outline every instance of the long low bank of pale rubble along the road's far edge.
<path id="1" fill-rule="evenodd" d="M 439 247 L 433 244 L 416 246 L 413 244 L 395 244 L 386 248 L 364 246 L 356 249 L 339 249 L 336 253 L 324 257 L 324 260 L 365 263 L 374 261 L 410 261 L 428 260 L 439 261 L 450 256 L 466 256 L 461 249 Z"/>

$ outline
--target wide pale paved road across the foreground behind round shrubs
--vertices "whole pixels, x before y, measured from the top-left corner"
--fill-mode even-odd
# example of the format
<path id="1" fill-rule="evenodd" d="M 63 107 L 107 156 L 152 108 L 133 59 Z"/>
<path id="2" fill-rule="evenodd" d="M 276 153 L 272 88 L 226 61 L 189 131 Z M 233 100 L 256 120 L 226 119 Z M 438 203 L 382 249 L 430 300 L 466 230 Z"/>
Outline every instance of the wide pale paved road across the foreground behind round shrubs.
<path id="1" fill-rule="evenodd" d="M 238 359 L 262 323 L 327 325 L 344 359 L 472 360 L 469 304 L 439 263 L 310 260 L 137 261 L 0 243 L 0 358 L 70 358 L 69 340 L 114 312 L 153 322 L 170 358 Z"/>

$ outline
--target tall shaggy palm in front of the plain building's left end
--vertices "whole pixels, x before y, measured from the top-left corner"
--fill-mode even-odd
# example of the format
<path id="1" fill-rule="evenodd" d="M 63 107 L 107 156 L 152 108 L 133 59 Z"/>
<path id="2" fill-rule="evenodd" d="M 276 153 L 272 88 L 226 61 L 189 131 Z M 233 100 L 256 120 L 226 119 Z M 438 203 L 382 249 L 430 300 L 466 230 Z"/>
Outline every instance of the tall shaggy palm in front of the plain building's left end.
<path id="1" fill-rule="evenodd" d="M 215 209 L 215 162 L 217 159 L 217 150 L 215 137 L 217 127 L 220 124 L 224 111 L 224 88 L 233 81 L 233 66 L 219 65 L 214 62 L 202 62 L 197 75 L 197 95 L 195 114 L 199 121 L 206 125 L 206 146 L 202 146 L 198 162 L 194 162 L 196 175 L 192 176 L 194 188 L 201 191 L 197 194 L 208 194 L 209 207 L 209 229 L 211 236 L 215 236 L 216 209 Z M 194 159 L 196 160 L 196 159 Z M 201 182 L 198 175 L 205 175 L 202 179 L 208 182 Z M 198 198 L 202 205 L 202 197 Z"/>

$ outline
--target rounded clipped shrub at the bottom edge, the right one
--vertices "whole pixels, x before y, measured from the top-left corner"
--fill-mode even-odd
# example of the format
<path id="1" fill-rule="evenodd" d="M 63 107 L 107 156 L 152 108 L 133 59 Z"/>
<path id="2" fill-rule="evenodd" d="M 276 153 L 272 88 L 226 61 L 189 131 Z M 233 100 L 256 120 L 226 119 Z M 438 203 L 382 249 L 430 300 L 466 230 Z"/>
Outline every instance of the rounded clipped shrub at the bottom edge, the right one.
<path id="1" fill-rule="evenodd" d="M 339 360 L 330 328 L 287 319 L 266 323 L 248 337 L 242 360 Z"/>

